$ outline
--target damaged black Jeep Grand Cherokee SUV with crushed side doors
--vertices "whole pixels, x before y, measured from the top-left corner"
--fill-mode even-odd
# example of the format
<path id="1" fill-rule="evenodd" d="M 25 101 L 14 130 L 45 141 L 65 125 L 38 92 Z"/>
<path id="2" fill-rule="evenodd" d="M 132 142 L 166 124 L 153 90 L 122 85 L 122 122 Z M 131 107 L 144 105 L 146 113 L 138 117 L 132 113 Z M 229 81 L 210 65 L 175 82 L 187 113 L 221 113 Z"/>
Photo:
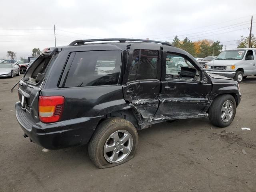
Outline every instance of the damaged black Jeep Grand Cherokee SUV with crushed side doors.
<path id="1" fill-rule="evenodd" d="M 137 130 L 152 124 L 209 116 L 228 126 L 241 99 L 235 80 L 207 74 L 184 50 L 137 39 L 46 48 L 20 80 L 18 96 L 25 137 L 47 149 L 88 143 L 98 168 L 130 160 Z"/>

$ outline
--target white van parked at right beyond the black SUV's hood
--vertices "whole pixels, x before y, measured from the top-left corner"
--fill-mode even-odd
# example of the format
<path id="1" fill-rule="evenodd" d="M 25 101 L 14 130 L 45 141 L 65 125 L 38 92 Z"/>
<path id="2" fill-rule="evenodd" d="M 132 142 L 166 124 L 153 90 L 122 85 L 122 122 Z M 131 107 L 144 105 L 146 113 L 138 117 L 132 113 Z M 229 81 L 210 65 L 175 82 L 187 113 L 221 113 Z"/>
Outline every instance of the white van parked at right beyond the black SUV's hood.
<path id="1" fill-rule="evenodd" d="M 256 48 L 240 48 L 222 51 L 207 63 L 208 73 L 234 78 L 238 83 L 248 75 L 256 75 Z"/>

